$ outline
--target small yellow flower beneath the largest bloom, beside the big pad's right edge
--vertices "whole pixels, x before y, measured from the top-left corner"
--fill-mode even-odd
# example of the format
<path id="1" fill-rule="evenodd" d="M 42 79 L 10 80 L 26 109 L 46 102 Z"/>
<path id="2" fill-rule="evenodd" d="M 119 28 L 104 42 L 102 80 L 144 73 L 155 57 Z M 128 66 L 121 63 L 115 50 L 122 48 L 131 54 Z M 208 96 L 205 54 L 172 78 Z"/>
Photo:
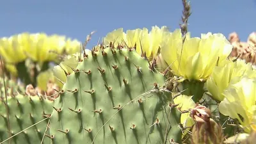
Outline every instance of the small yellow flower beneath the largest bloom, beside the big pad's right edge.
<path id="1" fill-rule="evenodd" d="M 193 109 L 196 106 L 195 102 L 191 98 L 192 96 L 179 95 L 173 99 L 173 102 L 175 104 L 179 104 L 177 108 L 179 108 L 180 111 L 188 111 L 189 109 Z M 191 118 L 191 116 L 189 116 L 189 113 L 182 113 L 180 117 L 180 123 L 183 127 L 192 127 L 192 125 L 195 124 L 195 121 L 193 118 Z M 182 136 L 184 136 L 187 132 L 188 131 L 183 131 Z"/>

